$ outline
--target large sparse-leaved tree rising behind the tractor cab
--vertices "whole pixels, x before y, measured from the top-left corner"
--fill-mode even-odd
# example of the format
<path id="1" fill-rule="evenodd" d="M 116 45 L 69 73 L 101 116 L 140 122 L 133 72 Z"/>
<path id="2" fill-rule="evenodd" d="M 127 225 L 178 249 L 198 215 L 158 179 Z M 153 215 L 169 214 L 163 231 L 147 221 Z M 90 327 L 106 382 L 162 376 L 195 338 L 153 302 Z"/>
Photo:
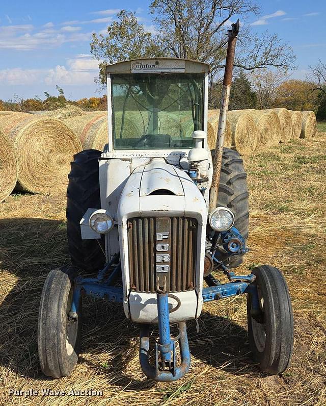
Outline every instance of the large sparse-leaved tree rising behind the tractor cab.
<path id="1" fill-rule="evenodd" d="M 150 5 L 154 33 L 145 30 L 133 13 L 122 10 L 118 21 L 107 28 L 107 35 L 93 34 L 91 53 L 100 61 L 100 82 L 105 83 L 103 67 L 106 62 L 171 56 L 196 59 L 211 66 L 210 86 L 224 68 L 226 28 L 237 16 L 246 19 L 257 14 L 253 0 L 153 0 Z M 277 69 L 293 67 L 291 47 L 277 37 L 253 34 L 241 28 L 235 67 L 253 70 L 266 66 Z"/>

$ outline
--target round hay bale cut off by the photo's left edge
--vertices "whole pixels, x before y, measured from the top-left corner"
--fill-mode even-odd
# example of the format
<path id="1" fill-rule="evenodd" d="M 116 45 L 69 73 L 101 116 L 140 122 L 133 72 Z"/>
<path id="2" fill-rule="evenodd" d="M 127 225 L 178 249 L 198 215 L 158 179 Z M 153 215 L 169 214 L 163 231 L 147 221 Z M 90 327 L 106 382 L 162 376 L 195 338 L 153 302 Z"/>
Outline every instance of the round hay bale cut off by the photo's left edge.
<path id="1" fill-rule="evenodd" d="M 0 203 L 14 190 L 18 163 L 13 142 L 0 131 Z"/>

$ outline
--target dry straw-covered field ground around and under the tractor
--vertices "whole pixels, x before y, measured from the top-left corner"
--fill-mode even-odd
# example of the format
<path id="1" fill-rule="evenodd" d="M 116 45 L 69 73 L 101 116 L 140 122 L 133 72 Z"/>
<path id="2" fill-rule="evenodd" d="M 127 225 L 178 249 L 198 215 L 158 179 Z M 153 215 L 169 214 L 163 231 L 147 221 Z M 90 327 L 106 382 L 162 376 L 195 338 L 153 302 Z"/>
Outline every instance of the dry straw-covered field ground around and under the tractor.
<path id="1" fill-rule="evenodd" d="M 146 379 L 138 328 L 118 304 L 84 300 L 82 354 L 70 377 L 42 375 L 37 315 L 47 272 L 68 263 L 65 191 L 13 194 L 0 206 L 0 404 L 3 405 L 324 405 L 326 402 L 326 133 L 245 158 L 250 187 L 249 246 L 242 268 L 270 263 L 287 277 L 295 321 L 294 356 L 281 376 L 252 364 L 246 298 L 206 303 L 188 323 L 189 373 L 178 382 Z M 9 396 L 10 388 L 102 390 L 102 397 Z"/>

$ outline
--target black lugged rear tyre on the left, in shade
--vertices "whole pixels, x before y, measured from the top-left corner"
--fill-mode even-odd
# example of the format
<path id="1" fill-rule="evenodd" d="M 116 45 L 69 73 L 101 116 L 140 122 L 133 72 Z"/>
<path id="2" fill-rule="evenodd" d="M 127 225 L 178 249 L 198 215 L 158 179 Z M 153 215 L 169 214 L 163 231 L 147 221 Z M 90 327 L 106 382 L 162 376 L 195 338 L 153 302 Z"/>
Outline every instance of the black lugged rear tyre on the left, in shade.
<path id="1" fill-rule="evenodd" d="M 71 262 L 79 269 L 97 271 L 105 263 L 104 237 L 82 240 L 79 221 L 87 209 L 100 209 L 99 157 L 101 151 L 86 149 L 74 155 L 68 175 L 67 235 Z"/>

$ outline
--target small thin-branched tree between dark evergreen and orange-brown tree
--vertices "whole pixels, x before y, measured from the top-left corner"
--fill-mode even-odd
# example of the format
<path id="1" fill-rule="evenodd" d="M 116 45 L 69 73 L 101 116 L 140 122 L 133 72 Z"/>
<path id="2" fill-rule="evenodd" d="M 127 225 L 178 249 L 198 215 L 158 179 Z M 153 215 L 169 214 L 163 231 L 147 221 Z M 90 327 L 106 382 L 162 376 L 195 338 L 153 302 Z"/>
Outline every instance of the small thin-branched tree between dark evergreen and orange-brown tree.
<path id="1" fill-rule="evenodd" d="M 251 73 L 251 83 L 257 97 L 257 108 L 268 109 L 274 105 L 275 92 L 286 78 L 279 70 L 256 69 Z"/>

